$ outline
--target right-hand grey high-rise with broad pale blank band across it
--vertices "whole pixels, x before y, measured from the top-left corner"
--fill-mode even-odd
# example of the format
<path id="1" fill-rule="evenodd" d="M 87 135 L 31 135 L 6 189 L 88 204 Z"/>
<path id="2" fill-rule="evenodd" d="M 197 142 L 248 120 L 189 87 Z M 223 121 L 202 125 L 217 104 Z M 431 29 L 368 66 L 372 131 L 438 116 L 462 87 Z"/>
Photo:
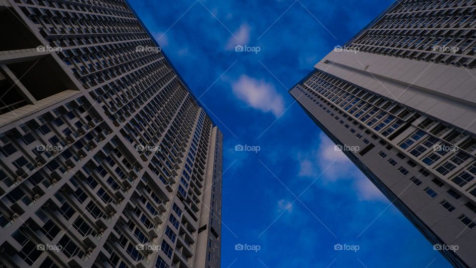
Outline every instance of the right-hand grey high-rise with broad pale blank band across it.
<path id="1" fill-rule="evenodd" d="M 290 90 L 456 267 L 476 267 L 475 10 L 397 0 Z"/>

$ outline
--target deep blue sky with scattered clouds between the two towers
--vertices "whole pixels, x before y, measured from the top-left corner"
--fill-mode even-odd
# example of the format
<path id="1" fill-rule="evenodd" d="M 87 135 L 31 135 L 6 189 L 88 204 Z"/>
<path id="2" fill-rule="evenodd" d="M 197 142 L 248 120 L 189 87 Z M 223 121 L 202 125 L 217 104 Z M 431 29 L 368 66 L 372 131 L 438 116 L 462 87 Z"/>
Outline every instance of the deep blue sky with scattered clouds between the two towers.
<path id="1" fill-rule="evenodd" d="M 224 134 L 222 267 L 450 267 L 288 93 L 391 0 L 130 3 Z"/>

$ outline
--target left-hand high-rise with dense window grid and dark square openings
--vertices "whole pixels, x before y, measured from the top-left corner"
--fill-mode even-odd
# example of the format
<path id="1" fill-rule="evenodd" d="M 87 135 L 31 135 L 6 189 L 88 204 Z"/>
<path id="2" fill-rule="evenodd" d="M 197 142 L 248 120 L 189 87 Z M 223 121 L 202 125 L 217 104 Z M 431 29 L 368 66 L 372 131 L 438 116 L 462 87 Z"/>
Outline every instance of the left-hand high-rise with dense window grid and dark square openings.
<path id="1" fill-rule="evenodd" d="M 223 135 L 131 6 L 0 24 L 0 267 L 220 267 Z"/>

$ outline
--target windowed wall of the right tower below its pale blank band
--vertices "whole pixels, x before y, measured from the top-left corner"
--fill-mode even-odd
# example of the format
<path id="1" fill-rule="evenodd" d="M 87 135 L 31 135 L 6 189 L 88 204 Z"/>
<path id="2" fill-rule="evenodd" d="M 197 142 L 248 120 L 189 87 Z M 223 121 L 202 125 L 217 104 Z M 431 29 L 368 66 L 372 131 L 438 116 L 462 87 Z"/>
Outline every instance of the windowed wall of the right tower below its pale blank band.
<path id="1" fill-rule="evenodd" d="M 460 246 L 456 253 L 443 252 L 450 262 L 476 265 L 473 247 L 462 246 L 476 234 L 474 134 L 319 69 L 290 93 L 336 144 L 359 148 L 344 152 L 432 244 Z M 414 142 L 407 147 L 408 139 Z M 459 149 L 439 150 L 454 145 Z M 447 163 L 455 166 L 448 173 L 440 169 Z M 463 215 L 470 226 L 459 219 Z"/>

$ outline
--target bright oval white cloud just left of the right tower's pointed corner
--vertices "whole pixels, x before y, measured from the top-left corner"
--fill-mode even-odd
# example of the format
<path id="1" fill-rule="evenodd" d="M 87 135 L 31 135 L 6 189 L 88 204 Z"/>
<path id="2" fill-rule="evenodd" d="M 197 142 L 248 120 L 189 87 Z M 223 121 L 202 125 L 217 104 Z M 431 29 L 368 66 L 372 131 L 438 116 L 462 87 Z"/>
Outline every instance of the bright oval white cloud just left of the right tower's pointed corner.
<path id="1" fill-rule="evenodd" d="M 271 83 L 257 80 L 245 74 L 232 83 L 235 96 L 249 106 L 263 112 L 271 112 L 276 117 L 284 111 L 284 100 Z"/>

